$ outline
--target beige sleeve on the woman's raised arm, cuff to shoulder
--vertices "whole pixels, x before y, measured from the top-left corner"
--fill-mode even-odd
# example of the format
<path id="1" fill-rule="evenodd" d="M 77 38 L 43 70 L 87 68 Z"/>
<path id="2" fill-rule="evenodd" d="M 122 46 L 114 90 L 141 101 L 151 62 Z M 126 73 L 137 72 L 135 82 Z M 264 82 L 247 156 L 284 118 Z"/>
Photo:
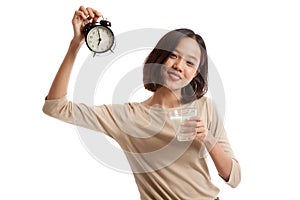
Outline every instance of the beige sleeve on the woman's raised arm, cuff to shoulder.
<path id="1" fill-rule="evenodd" d="M 68 101 L 66 96 L 45 100 L 43 112 L 61 121 L 100 131 L 116 139 L 120 134 L 111 106 L 88 106 Z"/>

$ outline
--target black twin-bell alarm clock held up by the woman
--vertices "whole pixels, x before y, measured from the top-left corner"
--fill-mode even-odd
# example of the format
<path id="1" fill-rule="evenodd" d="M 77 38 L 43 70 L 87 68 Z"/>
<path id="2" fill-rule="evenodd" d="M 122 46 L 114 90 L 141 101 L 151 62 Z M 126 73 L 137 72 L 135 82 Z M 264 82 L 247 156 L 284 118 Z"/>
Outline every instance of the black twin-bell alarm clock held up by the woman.
<path id="1" fill-rule="evenodd" d="M 107 20 L 101 20 L 95 24 L 88 23 L 84 26 L 86 45 L 95 54 L 112 51 L 115 36 L 109 27 L 111 23 Z"/>

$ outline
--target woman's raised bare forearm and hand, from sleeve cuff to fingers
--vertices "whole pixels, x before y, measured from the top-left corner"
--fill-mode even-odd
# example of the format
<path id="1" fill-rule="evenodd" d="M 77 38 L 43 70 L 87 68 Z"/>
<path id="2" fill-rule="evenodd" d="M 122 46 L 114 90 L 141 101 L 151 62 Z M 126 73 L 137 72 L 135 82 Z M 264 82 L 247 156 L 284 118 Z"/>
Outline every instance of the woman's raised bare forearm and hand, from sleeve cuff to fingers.
<path id="1" fill-rule="evenodd" d="M 80 8 L 75 11 L 72 19 L 74 36 L 70 42 L 69 49 L 65 55 L 65 58 L 60 65 L 60 68 L 50 87 L 47 96 L 48 100 L 58 99 L 67 94 L 72 68 L 77 53 L 84 42 L 84 34 L 82 32 L 82 29 L 85 24 L 89 22 L 95 23 L 100 17 L 100 12 L 89 7 L 85 8 L 83 6 L 80 6 Z"/>

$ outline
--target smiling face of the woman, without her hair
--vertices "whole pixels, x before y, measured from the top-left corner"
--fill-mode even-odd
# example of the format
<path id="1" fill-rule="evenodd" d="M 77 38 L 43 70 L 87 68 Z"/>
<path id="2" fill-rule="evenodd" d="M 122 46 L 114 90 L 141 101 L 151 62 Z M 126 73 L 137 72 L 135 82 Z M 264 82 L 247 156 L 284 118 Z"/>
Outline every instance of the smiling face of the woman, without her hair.
<path id="1" fill-rule="evenodd" d="M 201 50 L 195 39 L 182 38 L 165 61 L 164 87 L 180 92 L 197 75 Z"/>

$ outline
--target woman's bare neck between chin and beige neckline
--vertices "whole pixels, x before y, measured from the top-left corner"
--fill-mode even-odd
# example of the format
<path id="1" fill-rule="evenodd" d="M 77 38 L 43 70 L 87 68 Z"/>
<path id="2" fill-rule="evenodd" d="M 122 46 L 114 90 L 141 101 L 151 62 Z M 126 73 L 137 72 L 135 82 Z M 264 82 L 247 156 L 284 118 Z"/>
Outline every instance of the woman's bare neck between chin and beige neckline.
<path id="1" fill-rule="evenodd" d="M 171 91 L 165 87 L 157 89 L 154 94 L 144 101 L 144 104 L 149 106 L 160 106 L 162 108 L 174 108 L 181 105 L 180 90 Z"/>

